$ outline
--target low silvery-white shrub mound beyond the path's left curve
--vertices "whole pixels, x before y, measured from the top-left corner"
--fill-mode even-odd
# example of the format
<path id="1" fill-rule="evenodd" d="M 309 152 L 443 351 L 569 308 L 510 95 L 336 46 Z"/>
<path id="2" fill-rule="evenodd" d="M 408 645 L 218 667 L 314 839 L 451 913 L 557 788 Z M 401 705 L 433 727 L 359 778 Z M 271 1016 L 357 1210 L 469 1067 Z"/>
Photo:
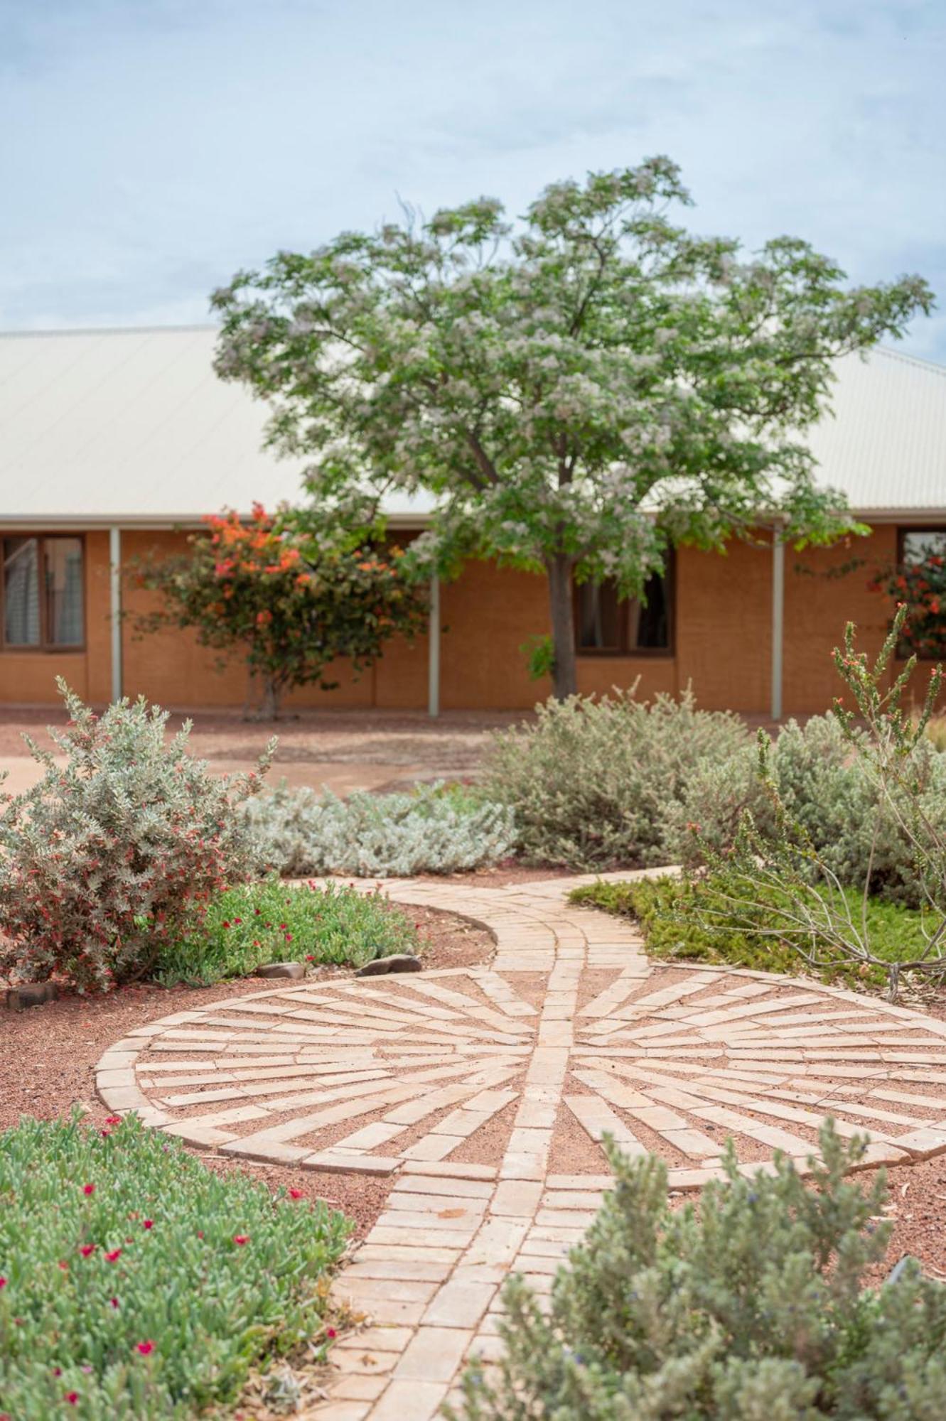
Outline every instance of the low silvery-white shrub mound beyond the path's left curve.
<path id="1" fill-rule="evenodd" d="M 266 863 L 286 877 L 449 874 L 503 858 L 516 845 L 511 810 L 463 786 L 341 800 L 281 784 L 243 813 Z"/>

